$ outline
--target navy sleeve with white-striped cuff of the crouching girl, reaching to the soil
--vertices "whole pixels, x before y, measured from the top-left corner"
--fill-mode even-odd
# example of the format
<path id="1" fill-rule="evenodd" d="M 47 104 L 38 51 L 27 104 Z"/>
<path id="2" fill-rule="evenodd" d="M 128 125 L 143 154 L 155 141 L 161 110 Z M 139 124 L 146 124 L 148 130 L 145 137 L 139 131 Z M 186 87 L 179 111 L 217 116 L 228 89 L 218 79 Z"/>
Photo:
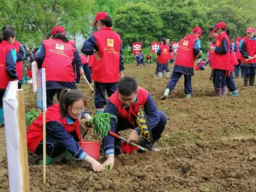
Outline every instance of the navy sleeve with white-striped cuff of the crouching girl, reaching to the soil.
<path id="1" fill-rule="evenodd" d="M 87 156 L 78 142 L 75 142 L 73 136 L 65 131 L 63 124 L 54 121 L 46 123 L 46 133 L 56 137 L 58 142 L 68 149 L 75 159 L 84 160 Z"/>

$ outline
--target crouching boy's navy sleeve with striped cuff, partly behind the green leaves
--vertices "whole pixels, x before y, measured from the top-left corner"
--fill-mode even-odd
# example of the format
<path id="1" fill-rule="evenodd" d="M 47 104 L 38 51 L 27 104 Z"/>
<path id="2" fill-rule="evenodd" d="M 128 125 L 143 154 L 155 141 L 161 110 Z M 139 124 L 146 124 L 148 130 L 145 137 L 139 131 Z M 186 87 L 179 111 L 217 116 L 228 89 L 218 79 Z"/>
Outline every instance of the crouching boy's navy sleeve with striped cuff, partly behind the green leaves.
<path id="1" fill-rule="evenodd" d="M 115 117 L 118 117 L 118 113 L 119 113 L 117 107 L 114 104 L 112 104 L 112 102 L 110 101 L 107 102 L 104 112 L 114 114 Z M 115 133 L 116 124 L 117 124 L 117 120 L 112 118 L 112 121 L 110 122 L 111 132 Z M 105 139 L 103 139 L 102 143 L 103 143 L 105 155 L 106 156 L 114 155 L 114 137 L 109 135 Z"/>

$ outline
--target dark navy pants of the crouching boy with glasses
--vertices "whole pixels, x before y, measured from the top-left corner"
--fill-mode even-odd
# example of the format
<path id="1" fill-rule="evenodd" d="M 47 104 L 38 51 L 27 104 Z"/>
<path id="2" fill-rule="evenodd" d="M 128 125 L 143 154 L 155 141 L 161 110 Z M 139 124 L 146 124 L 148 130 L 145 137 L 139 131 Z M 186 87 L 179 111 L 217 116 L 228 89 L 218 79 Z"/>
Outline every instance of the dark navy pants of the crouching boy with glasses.
<path id="1" fill-rule="evenodd" d="M 167 122 L 166 114 L 160 110 L 158 110 L 158 112 L 160 117 L 159 123 L 156 124 L 156 127 L 151 127 L 153 142 L 156 142 L 160 139 L 161 133 L 164 132 L 164 128 Z M 124 119 L 118 118 L 116 133 L 125 129 L 134 129 L 134 127 L 130 122 Z"/>

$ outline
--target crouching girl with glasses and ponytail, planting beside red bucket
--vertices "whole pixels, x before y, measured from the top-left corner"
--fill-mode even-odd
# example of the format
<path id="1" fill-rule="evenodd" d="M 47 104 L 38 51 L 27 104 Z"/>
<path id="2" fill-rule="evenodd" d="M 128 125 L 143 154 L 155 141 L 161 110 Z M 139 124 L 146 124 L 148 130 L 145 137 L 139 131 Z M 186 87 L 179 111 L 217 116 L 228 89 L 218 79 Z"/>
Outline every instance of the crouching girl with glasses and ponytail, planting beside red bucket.
<path id="1" fill-rule="evenodd" d="M 64 159 L 71 154 L 75 159 L 85 160 L 92 165 L 94 171 L 103 171 L 102 165 L 82 150 L 78 142 L 80 137 L 80 115 L 90 119 L 85 111 L 85 96 L 79 90 L 62 90 L 59 104 L 52 105 L 46 112 L 46 164 L 60 154 Z M 43 155 L 43 114 L 28 127 L 27 144 L 33 154 Z"/>

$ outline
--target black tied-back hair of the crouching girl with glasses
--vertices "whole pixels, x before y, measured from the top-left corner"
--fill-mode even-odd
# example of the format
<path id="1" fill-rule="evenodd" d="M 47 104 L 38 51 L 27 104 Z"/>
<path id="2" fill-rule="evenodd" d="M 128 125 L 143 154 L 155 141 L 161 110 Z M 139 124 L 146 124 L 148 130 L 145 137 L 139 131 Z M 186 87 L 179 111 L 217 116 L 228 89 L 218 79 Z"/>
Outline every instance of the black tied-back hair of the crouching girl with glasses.
<path id="1" fill-rule="evenodd" d="M 85 95 L 80 92 L 80 90 L 70 90 L 70 89 L 64 89 L 60 92 L 60 98 L 59 98 L 59 107 L 60 107 L 60 114 L 61 117 L 65 117 L 67 114 L 68 107 L 73 105 L 74 102 L 77 102 L 78 100 L 83 100 L 86 106 L 86 100 Z M 65 105 L 65 108 L 63 107 L 63 104 Z"/>

